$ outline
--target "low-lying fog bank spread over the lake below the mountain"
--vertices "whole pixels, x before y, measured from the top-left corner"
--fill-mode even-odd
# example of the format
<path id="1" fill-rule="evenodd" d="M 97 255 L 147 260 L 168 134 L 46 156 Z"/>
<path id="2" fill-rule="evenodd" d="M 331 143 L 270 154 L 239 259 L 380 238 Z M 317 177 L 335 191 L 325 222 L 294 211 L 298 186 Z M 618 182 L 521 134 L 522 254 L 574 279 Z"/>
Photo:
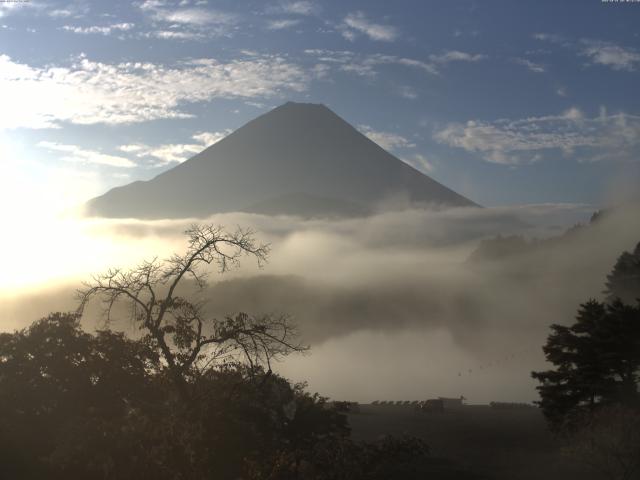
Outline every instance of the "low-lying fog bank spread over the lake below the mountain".
<path id="1" fill-rule="evenodd" d="M 640 241 L 640 209 L 615 210 L 522 254 L 469 256 L 482 238 L 561 235 L 588 223 L 593 210 L 540 205 L 307 221 L 217 215 L 206 222 L 252 227 L 272 252 L 261 270 L 247 259 L 238 271 L 212 275 L 209 308 L 291 315 L 311 353 L 279 371 L 333 398 L 532 401 L 530 371 L 544 367 L 548 326 L 571 322 L 580 302 L 602 296 L 618 255 Z M 16 232 L 21 238 L 2 249 L 0 329 L 75 309 L 73 291 L 91 273 L 181 252 L 189 223 L 67 218 Z"/>

